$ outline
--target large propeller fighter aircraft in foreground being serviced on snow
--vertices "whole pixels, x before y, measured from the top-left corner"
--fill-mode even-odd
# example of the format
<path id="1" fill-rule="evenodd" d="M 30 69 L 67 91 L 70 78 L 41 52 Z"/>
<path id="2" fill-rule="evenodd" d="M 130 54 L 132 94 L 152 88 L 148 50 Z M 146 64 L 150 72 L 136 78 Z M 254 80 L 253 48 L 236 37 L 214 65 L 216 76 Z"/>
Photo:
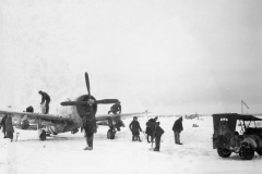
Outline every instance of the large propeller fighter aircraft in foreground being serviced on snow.
<path id="1" fill-rule="evenodd" d="M 61 105 L 63 107 L 61 107 L 59 110 L 59 114 L 41 114 L 0 110 L 0 117 L 3 117 L 4 114 L 11 114 L 15 128 L 38 129 L 40 140 L 45 140 L 46 134 L 57 135 L 67 132 L 71 132 L 72 134 L 78 133 L 79 128 L 83 126 L 82 119 L 86 116 L 86 119 L 90 119 L 93 122 L 94 126 L 96 126 L 96 122 L 97 125 L 108 125 L 109 129 L 107 132 L 107 138 L 114 139 L 117 130 L 120 130 L 120 127 L 124 127 L 121 119 L 144 113 L 104 114 L 95 116 L 97 104 L 116 103 L 119 100 L 96 100 L 93 96 L 91 96 L 90 92 L 90 79 L 87 73 L 85 73 L 85 83 L 88 95 L 80 96 L 75 99 L 75 101 L 61 102 Z"/>

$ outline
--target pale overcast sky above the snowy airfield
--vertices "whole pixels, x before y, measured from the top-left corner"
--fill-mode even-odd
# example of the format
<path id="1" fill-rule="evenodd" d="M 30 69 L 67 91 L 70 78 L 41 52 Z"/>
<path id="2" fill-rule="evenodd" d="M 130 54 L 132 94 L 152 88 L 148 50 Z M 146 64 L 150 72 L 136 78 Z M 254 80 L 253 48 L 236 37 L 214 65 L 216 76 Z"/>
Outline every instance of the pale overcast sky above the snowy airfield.
<path id="1" fill-rule="evenodd" d="M 86 94 L 122 112 L 262 113 L 262 1 L 1 1 L 0 105 Z M 106 113 L 110 105 L 99 105 Z"/>

